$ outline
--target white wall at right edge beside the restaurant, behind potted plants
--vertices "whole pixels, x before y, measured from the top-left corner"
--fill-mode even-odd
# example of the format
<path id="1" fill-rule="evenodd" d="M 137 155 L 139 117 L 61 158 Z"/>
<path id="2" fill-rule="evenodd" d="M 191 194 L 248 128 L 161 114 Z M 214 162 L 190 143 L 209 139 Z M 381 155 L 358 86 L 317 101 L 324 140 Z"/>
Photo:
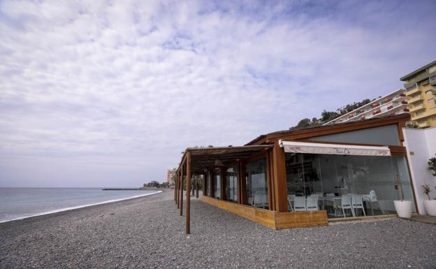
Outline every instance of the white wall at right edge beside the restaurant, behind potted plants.
<path id="1" fill-rule="evenodd" d="M 403 128 L 405 136 L 405 147 L 407 150 L 407 160 L 409 161 L 410 173 L 412 174 L 412 184 L 414 185 L 416 203 L 420 214 L 426 214 L 423 201 L 427 196 L 423 194 L 421 185 L 424 180 L 433 189 L 430 192 L 431 198 L 436 198 L 436 177 L 428 170 L 428 159 L 435 157 L 436 154 L 436 127 L 428 129 Z"/>

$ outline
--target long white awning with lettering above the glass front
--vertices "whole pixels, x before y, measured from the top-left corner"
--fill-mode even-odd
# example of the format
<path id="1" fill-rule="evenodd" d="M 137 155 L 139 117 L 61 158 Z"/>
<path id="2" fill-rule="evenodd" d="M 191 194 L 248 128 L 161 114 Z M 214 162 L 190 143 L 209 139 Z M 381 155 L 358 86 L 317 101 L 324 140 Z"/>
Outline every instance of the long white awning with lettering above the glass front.
<path id="1" fill-rule="evenodd" d="M 280 147 L 284 152 L 299 152 L 313 154 L 337 154 L 337 155 L 365 155 L 365 156 L 391 156 L 389 147 L 336 145 L 324 143 L 305 143 L 279 140 Z"/>

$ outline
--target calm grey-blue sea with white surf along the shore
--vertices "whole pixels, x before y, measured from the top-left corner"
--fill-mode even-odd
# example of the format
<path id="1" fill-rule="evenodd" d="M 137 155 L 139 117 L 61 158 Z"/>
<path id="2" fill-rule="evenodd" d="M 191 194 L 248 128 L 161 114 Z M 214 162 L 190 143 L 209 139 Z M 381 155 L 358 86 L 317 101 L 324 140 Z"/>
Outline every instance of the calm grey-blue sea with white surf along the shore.
<path id="1" fill-rule="evenodd" d="M 157 191 L 103 191 L 101 189 L 0 188 L 0 222 L 157 193 Z"/>

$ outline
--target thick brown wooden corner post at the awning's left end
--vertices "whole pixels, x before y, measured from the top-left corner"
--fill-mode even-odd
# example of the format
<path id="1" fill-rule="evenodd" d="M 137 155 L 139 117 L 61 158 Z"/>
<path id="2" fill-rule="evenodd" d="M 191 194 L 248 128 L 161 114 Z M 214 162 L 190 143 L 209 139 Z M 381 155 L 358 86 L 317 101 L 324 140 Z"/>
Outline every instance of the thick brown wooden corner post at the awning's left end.
<path id="1" fill-rule="evenodd" d="M 275 211 L 288 212 L 286 189 L 286 166 L 284 150 L 279 146 L 279 141 L 275 141 L 273 147 L 273 180 L 275 194 Z"/>

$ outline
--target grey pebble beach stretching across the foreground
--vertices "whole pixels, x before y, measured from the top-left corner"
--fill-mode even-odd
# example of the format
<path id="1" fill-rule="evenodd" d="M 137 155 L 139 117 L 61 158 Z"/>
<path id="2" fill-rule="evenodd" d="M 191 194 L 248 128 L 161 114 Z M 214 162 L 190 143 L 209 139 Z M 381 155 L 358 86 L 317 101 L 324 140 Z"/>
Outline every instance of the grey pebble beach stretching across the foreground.
<path id="1" fill-rule="evenodd" d="M 436 225 L 404 219 L 275 231 L 173 191 L 0 224 L 0 268 L 436 268 Z"/>

